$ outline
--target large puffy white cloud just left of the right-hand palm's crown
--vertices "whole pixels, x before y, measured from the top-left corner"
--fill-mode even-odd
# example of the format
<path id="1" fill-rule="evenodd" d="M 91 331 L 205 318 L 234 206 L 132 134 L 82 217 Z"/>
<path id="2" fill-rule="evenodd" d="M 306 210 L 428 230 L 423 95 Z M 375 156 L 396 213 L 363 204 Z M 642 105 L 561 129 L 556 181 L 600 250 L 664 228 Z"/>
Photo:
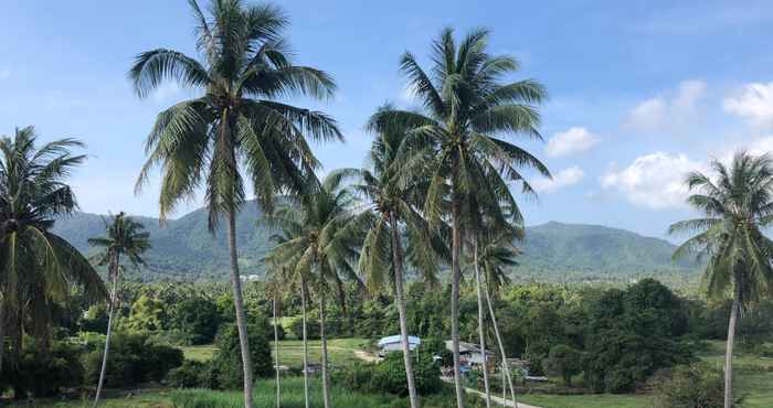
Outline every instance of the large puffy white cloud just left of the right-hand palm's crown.
<path id="1" fill-rule="evenodd" d="M 685 154 L 656 152 L 637 158 L 624 169 L 611 168 L 601 185 L 623 194 L 636 206 L 661 210 L 686 205 L 689 191 L 685 176 L 690 171 L 706 171 L 702 163 Z"/>

